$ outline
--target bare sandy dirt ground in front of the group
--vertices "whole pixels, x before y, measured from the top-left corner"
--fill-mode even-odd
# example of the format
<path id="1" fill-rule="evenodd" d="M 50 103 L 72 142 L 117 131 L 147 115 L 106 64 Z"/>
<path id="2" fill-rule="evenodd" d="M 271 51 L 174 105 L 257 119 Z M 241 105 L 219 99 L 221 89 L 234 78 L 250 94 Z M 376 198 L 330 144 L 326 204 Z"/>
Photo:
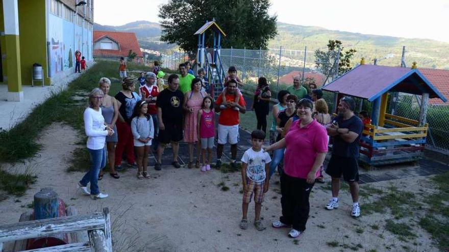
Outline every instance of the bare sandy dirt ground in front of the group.
<path id="1" fill-rule="evenodd" d="M 287 237 L 288 229 L 270 227 L 281 214 L 278 175 L 270 181 L 265 195 L 261 215 L 267 229 L 262 232 L 253 225 L 247 230 L 238 227 L 240 173 L 224 174 L 216 170 L 202 173 L 199 169 L 173 167 L 163 167 L 157 172 L 151 167 L 148 171 L 153 178 L 138 180 L 135 170 L 128 169 L 120 173 L 118 180 L 105 174 L 99 187 L 109 198 L 92 201 L 76 188 L 83 173 L 66 172 L 71 152 L 77 148 L 73 143 L 80 139 L 77 134 L 68 125 L 53 124 L 40 138 L 43 145 L 40 157 L 4 167 L 9 172 L 34 173 L 38 179 L 23 197 L 11 196 L 0 202 L 0 224 L 18 221 L 22 212 L 30 210 L 26 205 L 40 188 L 53 187 L 66 204 L 76 206 L 81 214 L 109 207 L 115 251 L 438 251 L 429 234 L 416 224 L 411 226 L 417 237 L 401 241 L 383 228 L 391 215 L 363 215 L 366 198 L 360 199 L 362 216 L 352 218 L 352 201 L 347 190 L 341 192 L 339 209 L 325 210 L 330 198 L 328 184 L 315 184 L 307 230 L 300 238 L 291 239 Z M 221 190 L 220 182 L 229 190 Z M 426 177 L 419 176 L 369 186 L 385 189 L 392 184 L 416 193 L 431 190 Z M 254 217 L 253 203 L 248 217 Z M 380 228 L 375 230 L 370 225 Z M 329 245 L 332 241 L 338 245 Z"/>

